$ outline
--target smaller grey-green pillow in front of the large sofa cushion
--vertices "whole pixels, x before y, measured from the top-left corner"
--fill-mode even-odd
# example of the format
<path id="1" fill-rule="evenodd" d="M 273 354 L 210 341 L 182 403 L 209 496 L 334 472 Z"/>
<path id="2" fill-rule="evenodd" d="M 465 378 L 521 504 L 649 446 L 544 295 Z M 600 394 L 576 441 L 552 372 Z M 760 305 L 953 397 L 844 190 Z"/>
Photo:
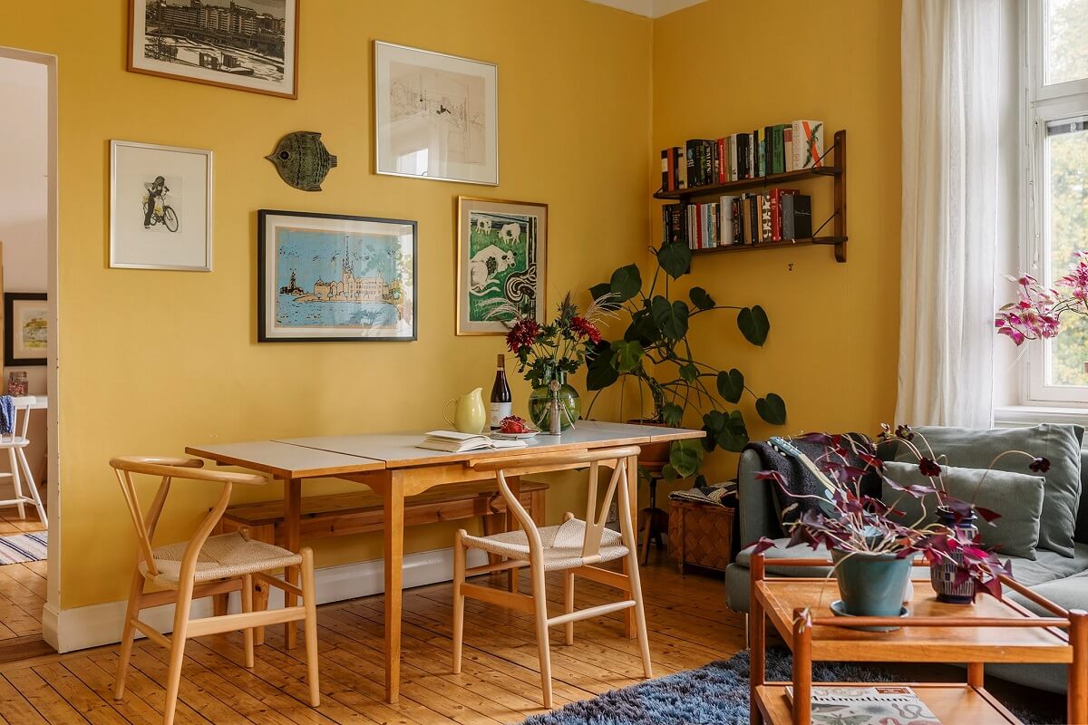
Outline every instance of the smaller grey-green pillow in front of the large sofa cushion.
<path id="1" fill-rule="evenodd" d="M 885 463 L 885 474 L 900 486 L 937 485 L 923 475 L 913 462 L 888 461 Z M 1039 516 L 1042 513 L 1042 476 L 950 465 L 944 466 L 941 482 L 950 496 L 961 501 L 973 500 L 977 505 L 1001 514 L 992 523 L 978 521 L 982 543 L 993 547 L 1003 557 L 1035 560 L 1035 547 L 1039 542 Z M 937 523 L 936 493 L 916 499 L 910 493 L 893 489 L 885 480 L 880 498 L 903 512 L 904 515 L 895 520 L 905 526 Z"/>

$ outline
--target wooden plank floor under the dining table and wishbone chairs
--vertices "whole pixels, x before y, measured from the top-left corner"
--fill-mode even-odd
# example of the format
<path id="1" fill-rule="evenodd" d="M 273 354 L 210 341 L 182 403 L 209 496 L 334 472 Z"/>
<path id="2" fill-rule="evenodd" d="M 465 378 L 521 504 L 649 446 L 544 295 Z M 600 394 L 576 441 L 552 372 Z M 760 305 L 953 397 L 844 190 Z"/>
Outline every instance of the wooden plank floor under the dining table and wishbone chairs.
<path id="1" fill-rule="evenodd" d="M 656 553 L 656 552 L 655 552 Z M 0 574 L 4 568 L 0 567 Z M 502 585 L 505 578 L 495 578 Z M 528 590 L 528 578 L 522 586 Z M 3 587 L 0 586 L 0 591 Z M 654 675 L 690 670 L 743 648 L 742 618 L 727 612 L 720 575 L 680 577 L 662 558 L 643 568 Z M 548 579 L 561 608 L 561 580 Z M 578 580 L 579 607 L 607 601 L 611 590 Z M 322 705 L 307 703 L 305 650 L 286 650 L 282 627 L 269 630 L 252 671 L 242 661 L 239 634 L 190 641 L 177 722 L 195 725 L 462 725 L 519 723 L 542 712 L 531 618 L 468 600 L 462 674 L 450 674 L 448 584 L 410 589 L 404 597 L 401 700 L 382 701 L 382 597 L 319 609 Z M 638 645 L 622 638 L 615 614 L 574 627 L 574 646 L 553 628 L 556 705 L 640 682 Z M 112 697 L 116 648 L 0 663 L 0 725 L 154 724 L 161 718 L 166 651 L 136 645 L 125 698 Z"/>

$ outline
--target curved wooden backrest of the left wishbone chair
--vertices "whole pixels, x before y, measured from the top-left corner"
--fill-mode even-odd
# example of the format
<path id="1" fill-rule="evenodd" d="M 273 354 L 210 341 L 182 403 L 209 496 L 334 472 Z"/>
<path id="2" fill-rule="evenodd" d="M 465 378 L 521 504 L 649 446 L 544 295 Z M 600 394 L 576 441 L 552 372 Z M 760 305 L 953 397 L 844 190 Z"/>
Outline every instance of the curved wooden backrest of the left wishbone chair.
<path id="1" fill-rule="evenodd" d="M 159 525 L 159 516 L 166 503 L 170 495 L 170 485 L 175 478 L 193 482 L 206 482 L 222 484 L 223 488 L 208 515 L 205 516 L 200 525 L 189 537 L 188 546 L 185 548 L 185 555 L 182 560 L 182 577 L 191 577 L 196 572 L 197 557 L 203 547 L 208 536 L 215 528 L 226 505 L 231 502 L 231 490 L 234 484 L 249 484 L 262 486 L 268 483 L 268 478 L 249 473 L 231 473 L 226 471 L 203 471 L 203 461 L 190 458 L 164 458 L 153 455 L 121 455 L 110 459 L 110 466 L 118 476 L 121 484 L 121 492 L 125 497 L 128 507 L 128 515 L 132 516 L 133 526 L 136 528 L 136 537 L 139 539 L 139 559 L 147 566 L 148 576 L 157 576 L 158 567 L 154 565 L 152 554 L 154 529 Z M 133 483 L 133 474 L 157 476 L 160 478 L 159 489 L 151 500 L 151 505 L 144 513 L 139 497 L 136 493 L 136 485 Z"/>

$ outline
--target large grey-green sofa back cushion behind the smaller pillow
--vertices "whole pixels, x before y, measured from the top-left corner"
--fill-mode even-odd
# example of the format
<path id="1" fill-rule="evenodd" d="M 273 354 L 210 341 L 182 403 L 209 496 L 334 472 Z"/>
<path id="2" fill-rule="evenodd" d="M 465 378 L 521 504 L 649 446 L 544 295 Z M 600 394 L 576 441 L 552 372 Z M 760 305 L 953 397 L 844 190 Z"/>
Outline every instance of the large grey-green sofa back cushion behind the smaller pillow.
<path id="1" fill-rule="evenodd" d="M 1039 527 L 1039 549 L 1073 557 L 1073 530 L 1080 503 L 1080 439 L 1084 428 L 1076 425 L 1044 423 L 1028 428 L 994 428 L 980 430 L 923 426 L 914 439 L 924 454 L 932 452 L 945 460 L 941 463 L 963 468 L 988 468 L 1004 451 L 1024 451 L 1050 461 L 1042 496 L 1042 520 Z M 924 440 L 923 440 L 924 439 Z M 928 443 L 928 446 L 927 446 Z M 899 446 L 897 461 L 913 461 L 914 454 Z M 1030 473 L 1030 461 L 1024 455 L 1005 455 L 993 463 L 998 471 Z"/>

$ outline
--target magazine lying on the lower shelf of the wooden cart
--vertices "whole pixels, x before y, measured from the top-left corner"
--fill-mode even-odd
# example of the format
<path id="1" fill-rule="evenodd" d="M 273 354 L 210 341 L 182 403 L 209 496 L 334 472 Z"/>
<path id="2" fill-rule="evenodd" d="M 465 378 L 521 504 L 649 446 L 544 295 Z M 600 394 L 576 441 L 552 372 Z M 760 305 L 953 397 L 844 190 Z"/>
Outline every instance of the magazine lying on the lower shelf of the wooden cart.
<path id="1" fill-rule="evenodd" d="M 786 687 L 786 701 L 793 707 L 793 687 Z M 878 685 L 876 687 L 812 688 L 812 722 L 814 725 L 941 725 L 922 698 L 910 687 Z"/>

